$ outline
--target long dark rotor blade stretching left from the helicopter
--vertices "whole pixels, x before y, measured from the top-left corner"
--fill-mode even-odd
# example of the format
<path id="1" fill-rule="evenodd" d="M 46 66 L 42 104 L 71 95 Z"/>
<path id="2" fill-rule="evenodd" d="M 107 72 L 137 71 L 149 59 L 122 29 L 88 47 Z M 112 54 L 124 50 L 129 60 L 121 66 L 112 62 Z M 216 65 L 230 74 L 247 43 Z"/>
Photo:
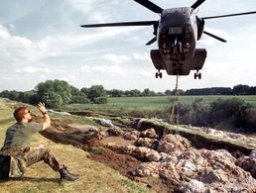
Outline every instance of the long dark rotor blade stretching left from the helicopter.
<path id="1" fill-rule="evenodd" d="M 121 22 L 121 23 L 106 23 L 106 24 L 88 24 L 80 25 L 82 28 L 98 28 L 98 27 L 120 27 L 120 26 L 151 26 L 157 21 L 141 21 L 141 22 Z"/>

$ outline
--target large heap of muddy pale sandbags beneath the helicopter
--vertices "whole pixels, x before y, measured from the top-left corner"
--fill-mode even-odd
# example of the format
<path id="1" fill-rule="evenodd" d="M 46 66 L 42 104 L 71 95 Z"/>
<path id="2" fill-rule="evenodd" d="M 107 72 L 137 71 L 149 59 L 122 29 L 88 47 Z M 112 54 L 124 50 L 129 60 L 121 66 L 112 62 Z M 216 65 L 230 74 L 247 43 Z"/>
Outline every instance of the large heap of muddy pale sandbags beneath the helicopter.
<path id="1" fill-rule="evenodd" d="M 256 170 L 255 158 L 236 159 L 224 149 L 195 149 L 179 135 L 159 140 L 154 129 L 137 132 L 136 137 L 134 145 L 122 148 L 123 152 L 145 160 L 131 171 L 132 175 L 168 179 L 182 192 L 256 191 L 256 180 L 251 175 Z M 250 169 L 245 169 L 245 165 Z"/>

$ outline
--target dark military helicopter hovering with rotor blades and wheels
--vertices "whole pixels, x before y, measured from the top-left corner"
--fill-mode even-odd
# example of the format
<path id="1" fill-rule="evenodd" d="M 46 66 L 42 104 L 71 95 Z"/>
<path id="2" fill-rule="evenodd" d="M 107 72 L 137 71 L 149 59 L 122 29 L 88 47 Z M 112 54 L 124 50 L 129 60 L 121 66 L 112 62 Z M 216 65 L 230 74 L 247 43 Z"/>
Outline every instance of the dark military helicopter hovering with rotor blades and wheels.
<path id="1" fill-rule="evenodd" d="M 195 48 L 196 41 L 202 34 L 214 38 L 222 43 L 226 41 L 220 37 L 204 31 L 204 20 L 256 14 L 253 12 L 236 13 L 199 18 L 195 9 L 205 0 L 197 0 L 191 7 L 163 9 L 149 0 L 134 0 L 142 6 L 160 15 L 158 21 L 139 21 L 106 24 L 81 25 L 82 28 L 121 27 L 121 26 L 153 26 L 155 36 L 146 45 L 158 42 L 158 49 L 151 49 L 151 59 L 156 69 L 156 78 L 162 78 L 160 70 L 166 70 L 169 75 L 189 75 L 196 70 L 194 79 L 201 79 L 199 70 L 206 58 L 205 48 Z"/>

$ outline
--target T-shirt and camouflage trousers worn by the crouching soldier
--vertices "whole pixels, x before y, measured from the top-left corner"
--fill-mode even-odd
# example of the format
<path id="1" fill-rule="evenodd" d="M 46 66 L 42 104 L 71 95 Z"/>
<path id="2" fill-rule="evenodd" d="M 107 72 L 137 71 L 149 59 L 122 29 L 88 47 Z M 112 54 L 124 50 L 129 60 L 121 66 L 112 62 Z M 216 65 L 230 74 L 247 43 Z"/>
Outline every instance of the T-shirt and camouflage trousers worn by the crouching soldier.
<path id="1" fill-rule="evenodd" d="M 43 124 L 16 123 L 7 130 L 5 143 L 0 151 L 0 178 L 20 177 L 28 166 L 41 160 L 56 171 L 62 168 L 61 163 L 46 145 L 27 145 L 31 136 L 42 128 Z"/>

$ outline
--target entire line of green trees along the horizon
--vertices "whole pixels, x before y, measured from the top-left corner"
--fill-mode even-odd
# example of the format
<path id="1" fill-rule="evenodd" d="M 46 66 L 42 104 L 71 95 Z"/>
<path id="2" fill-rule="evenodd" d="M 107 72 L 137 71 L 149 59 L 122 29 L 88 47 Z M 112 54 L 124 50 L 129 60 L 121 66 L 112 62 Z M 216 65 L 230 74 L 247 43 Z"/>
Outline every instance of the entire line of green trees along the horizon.
<path id="1" fill-rule="evenodd" d="M 9 98 L 29 104 L 37 104 L 44 101 L 48 107 L 59 108 L 67 104 L 78 103 L 107 103 L 108 97 L 140 97 L 140 96 L 169 96 L 174 95 L 175 90 L 166 90 L 165 92 L 155 92 L 149 88 L 143 91 L 138 89 L 132 90 L 106 90 L 102 85 L 92 85 L 89 88 L 82 87 L 78 89 L 69 85 L 64 80 L 47 80 L 39 83 L 35 89 L 25 92 L 15 90 L 4 90 L 0 92 L 0 97 Z M 230 87 L 212 87 L 179 90 L 180 95 L 256 95 L 256 86 L 236 85 Z"/>

